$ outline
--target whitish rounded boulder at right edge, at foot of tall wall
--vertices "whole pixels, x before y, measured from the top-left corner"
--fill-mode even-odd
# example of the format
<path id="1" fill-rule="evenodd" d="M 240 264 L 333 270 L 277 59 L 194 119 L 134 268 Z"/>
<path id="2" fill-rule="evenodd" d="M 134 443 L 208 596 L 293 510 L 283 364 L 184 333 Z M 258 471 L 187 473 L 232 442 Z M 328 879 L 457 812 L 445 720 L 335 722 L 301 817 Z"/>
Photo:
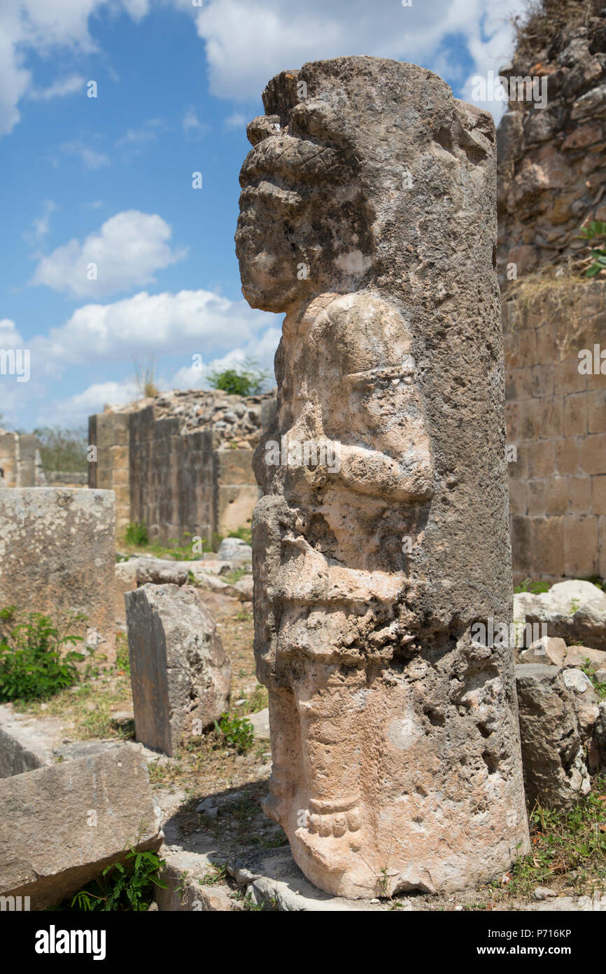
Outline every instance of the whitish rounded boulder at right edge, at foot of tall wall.
<path id="1" fill-rule="evenodd" d="M 590 581 L 558 581 L 549 592 L 514 596 L 514 618 L 547 624 L 568 647 L 583 643 L 606 651 L 606 592 Z"/>

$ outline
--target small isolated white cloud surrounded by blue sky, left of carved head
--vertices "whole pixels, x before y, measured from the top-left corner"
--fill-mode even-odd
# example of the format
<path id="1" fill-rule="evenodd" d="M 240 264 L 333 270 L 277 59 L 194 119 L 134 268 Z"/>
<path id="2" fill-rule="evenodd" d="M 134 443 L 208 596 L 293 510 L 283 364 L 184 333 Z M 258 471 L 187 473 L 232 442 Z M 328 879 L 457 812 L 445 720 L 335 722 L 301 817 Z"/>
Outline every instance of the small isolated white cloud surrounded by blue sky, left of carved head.
<path id="1" fill-rule="evenodd" d="M 31 283 L 73 297 L 100 297 L 156 281 L 156 271 L 187 252 L 171 250 L 171 232 L 157 213 L 127 209 L 106 220 L 82 244 L 71 240 L 43 257 Z M 96 280 L 89 281 L 91 265 L 96 265 Z"/>

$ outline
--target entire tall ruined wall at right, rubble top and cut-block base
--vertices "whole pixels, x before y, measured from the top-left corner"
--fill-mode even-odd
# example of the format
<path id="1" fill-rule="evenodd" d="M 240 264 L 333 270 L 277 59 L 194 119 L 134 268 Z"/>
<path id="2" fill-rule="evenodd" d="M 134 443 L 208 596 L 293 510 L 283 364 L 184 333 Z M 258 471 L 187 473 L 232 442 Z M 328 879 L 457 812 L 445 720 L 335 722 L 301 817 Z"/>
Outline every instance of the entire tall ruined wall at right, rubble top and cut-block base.
<path id="1" fill-rule="evenodd" d="M 606 220 L 606 13 L 501 74 L 548 92 L 510 102 L 497 132 L 514 581 L 605 577 L 606 375 L 578 353 L 606 348 L 606 281 L 584 280 L 578 235 Z"/>

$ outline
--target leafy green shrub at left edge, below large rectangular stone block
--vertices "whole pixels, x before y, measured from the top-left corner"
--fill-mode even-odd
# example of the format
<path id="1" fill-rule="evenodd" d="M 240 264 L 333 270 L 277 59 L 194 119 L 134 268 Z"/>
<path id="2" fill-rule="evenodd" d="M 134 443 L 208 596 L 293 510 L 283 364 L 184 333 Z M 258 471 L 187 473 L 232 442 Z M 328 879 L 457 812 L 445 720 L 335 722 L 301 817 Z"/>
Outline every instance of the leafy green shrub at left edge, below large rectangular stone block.
<path id="1" fill-rule="evenodd" d="M 46 699 L 76 683 L 75 664 L 85 656 L 62 648 L 81 642 L 81 637 L 68 635 L 67 628 L 86 621 L 86 616 L 70 616 L 61 632 L 48 616 L 35 612 L 9 628 L 15 612 L 14 606 L 0 612 L 0 622 L 8 629 L 0 636 L 0 701 Z"/>

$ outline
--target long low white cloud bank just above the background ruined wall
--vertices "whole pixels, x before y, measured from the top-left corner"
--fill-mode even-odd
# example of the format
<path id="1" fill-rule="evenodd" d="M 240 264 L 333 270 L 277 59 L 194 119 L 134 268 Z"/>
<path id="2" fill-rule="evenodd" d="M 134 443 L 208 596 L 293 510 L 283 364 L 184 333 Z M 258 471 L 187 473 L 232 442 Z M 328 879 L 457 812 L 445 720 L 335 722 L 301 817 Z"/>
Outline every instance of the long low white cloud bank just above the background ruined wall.
<path id="1" fill-rule="evenodd" d="M 273 355 L 281 329 L 278 315 L 252 311 L 246 302 L 231 301 L 211 291 L 179 291 L 176 294 L 136 294 L 109 305 L 87 305 L 79 308 L 65 324 L 53 328 L 48 336 L 29 342 L 32 350 L 32 379 L 36 380 L 36 397 L 44 396 L 44 411 L 38 425 L 54 423 L 75 426 L 100 412 L 107 402 L 129 402 L 137 396 L 132 376 L 122 381 L 94 382 L 82 392 L 51 401 L 44 383 L 53 387 L 69 366 L 121 363 L 132 373 L 133 360 L 150 356 L 161 365 L 162 356 L 183 356 L 184 364 L 165 377 L 165 369 L 156 382 L 160 390 L 207 388 L 208 372 L 233 368 L 253 357 L 270 373 L 267 387 L 273 385 Z M 153 325 L 153 326 L 152 326 Z M 3 336 L 7 347 L 19 347 L 21 341 L 15 323 L 0 321 L 0 347 Z M 226 341 L 236 345 L 217 356 Z M 201 355 L 204 369 L 193 368 L 193 356 Z M 35 370 L 33 366 L 35 365 Z M 87 372 L 83 372 L 87 374 Z M 28 390 L 33 393 L 33 381 Z M 29 396 L 31 399 L 31 395 Z M 10 402 L 12 416 L 21 398 Z"/>

